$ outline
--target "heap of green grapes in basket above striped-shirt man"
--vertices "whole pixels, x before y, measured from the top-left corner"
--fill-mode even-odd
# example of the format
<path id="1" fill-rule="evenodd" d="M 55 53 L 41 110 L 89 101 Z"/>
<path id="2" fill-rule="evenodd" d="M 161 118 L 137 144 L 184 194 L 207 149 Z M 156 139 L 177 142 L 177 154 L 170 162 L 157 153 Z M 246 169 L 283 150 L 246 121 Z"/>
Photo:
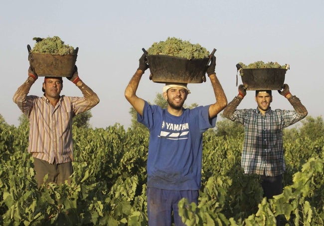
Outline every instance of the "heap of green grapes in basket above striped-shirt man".
<path id="1" fill-rule="evenodd" d="M 46 53 L 52 55 L 69 55 L 75 54 L 75 49 L 72 46 L 64 44 L 64 42 L 58 37 L 48 38 L 33 38 L 36 41 L 31 53 Z"/>

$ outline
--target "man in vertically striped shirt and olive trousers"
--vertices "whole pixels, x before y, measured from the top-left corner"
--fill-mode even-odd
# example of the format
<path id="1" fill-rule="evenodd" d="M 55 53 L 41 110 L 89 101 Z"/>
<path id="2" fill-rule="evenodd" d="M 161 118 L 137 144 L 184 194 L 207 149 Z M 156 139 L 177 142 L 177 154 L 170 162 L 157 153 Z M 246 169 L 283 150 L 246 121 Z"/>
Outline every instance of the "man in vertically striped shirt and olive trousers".
<path id="1" fill-rule="evenodd" d="M 44 77 L 41 97 L 27 95 L 38 76 L 32 67 L 28 69 L 27 80 L 13 96 L 19 109 L 29 119 L 28 151 L 34 159 L 34 170 L 38 187 L 47 183 L 71 183 L 73 172 L 72 118 L 99 103 L 97 94 L 78 76 L 67 77 L 82 92 L 83 97 L 60 95 L 62 77 Z"/>

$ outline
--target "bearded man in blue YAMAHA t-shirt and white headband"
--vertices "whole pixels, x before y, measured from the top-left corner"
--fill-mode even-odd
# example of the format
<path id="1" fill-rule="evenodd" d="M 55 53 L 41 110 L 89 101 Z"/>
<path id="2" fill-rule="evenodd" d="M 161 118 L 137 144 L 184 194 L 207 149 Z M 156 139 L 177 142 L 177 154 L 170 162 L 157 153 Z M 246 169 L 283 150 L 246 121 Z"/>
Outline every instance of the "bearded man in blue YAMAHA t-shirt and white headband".
<path id="1" fill-rule="evenodd" d="M 207 67 L 216 102 L 193 109 L 183 108 L 190 93 L 184 83 L 166 83 L 163 97 L 167 108 L 150 105 L 136 95 L 142 75 L 149 68 L 145 54 L 125 90 L 125 97 L 138 112 L 138 121 L 148 127 L 148 218 L 150 226 L 184 225 L 178 214 L 178 202 L 187 198 L 198 202 L 201 180 L 202 133 L 216 124 L 217 114 L 227 99 L 216 74 L 216 58 Z M 206 97 L 206 96 L 205 96 Z"/>

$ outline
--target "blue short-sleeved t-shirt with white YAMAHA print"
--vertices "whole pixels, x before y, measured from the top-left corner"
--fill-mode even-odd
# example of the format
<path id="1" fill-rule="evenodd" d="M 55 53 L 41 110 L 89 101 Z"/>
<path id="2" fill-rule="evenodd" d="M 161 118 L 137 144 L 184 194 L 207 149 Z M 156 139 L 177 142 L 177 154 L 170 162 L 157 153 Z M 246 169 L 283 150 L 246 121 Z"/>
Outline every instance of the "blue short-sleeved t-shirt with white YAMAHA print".
<path id="1" fill-rule="evenodd" d="M 150 130 L 148 187 L 166 190 L 199 190 L 201 182 L 202 133 L 216 125 L 208 106 L 183 109 L 174 116 L 145 101 L 138 122 Z"/>

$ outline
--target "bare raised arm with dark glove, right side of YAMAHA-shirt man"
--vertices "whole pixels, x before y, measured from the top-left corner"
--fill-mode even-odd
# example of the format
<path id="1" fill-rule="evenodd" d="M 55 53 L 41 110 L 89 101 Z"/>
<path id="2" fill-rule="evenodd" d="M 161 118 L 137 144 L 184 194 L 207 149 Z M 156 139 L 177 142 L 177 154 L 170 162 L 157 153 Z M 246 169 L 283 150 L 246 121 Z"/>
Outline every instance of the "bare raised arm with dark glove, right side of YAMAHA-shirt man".
<path id="1" fill-rule="evenodd" d="M 208 77 L 210 78 L 211 85 L 213 86 L 213 90 L 216 98 L 216 102 L 209 106 L 209 118 L 214 118 L 227 105 L 227 98 L 216 76 L 215 67 L 216 67 L 216 57 L 213 56 L 211 63 L 208 66 L 206 71 Z"/>

